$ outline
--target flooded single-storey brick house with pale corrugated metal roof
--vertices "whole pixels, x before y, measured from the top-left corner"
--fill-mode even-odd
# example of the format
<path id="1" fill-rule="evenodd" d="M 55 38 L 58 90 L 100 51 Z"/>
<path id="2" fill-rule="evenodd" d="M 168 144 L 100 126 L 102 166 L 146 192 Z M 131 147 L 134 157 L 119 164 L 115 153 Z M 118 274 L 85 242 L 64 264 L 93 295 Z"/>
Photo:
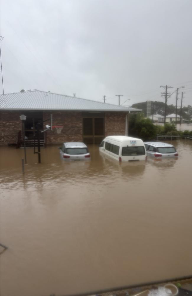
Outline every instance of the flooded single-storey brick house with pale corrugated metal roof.
<path id="1" fill-rule="evenodd" d="M 40 129 L 63 126 L 42 133 L 47 144 L 83 141 L 99 144 L 105 136 L 128 135 L 128 115 L 139 109 L 106 104 L 45 91 L 29 91 L 0 95 L 0 145 L 17 143 L 22 130 L 20 115 L 26 115 L 25 136 L 33 139 L 37 123 Z M 44 139 L 45 141 L 45 139 Z"/>

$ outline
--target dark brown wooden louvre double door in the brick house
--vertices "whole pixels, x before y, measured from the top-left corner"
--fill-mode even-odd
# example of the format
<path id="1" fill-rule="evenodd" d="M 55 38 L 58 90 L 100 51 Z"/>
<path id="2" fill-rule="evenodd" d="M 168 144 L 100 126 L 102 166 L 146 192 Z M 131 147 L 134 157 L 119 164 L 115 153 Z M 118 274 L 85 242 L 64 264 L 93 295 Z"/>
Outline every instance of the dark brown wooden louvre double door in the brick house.
<path id="1" fill-rule="evenodd" d="M 100 144 L 104 138 L 104 118 L 83 118 L 83 142 L 85 144 Z"/>

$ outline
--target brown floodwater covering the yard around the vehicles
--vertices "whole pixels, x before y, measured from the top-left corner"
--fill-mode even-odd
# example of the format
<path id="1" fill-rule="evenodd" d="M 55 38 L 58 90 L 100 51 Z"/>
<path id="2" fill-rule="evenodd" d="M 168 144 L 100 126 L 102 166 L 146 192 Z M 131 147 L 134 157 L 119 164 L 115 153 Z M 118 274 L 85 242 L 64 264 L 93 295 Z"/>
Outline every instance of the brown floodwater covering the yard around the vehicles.
<path id="1" fill-rule="evenodd" d="M 90 146 L 90 162 L 65 163 L 56 146 L 42 164 L 0 147 L 1 296 L 69 295 L 192 274 L 192 141 L 178 159 L 118 163 Z"/>

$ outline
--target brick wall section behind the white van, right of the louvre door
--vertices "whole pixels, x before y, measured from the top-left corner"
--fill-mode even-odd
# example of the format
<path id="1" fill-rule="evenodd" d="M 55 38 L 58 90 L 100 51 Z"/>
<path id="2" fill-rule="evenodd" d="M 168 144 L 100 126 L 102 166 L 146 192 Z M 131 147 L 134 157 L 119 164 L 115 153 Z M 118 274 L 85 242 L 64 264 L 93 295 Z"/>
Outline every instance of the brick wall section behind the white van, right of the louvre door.
<path id="1" fill-rule="evenodd" d="M 113 135 L 125 136 L 126 113 L 105 113 L 105 137 Z"/>

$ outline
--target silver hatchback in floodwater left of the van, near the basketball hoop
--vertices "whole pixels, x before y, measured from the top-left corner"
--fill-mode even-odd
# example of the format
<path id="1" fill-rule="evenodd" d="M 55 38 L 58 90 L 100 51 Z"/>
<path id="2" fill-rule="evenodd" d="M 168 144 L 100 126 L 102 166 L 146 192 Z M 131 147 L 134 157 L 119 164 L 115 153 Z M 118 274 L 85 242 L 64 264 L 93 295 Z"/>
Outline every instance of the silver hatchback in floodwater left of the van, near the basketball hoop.
<path id="1" fill-rule="evenodd" d="M 66 161 L 90 160 L 91 157 L 87 146 L 81 142 L 66 142 L 59 149 L 61 159 Z"/>

